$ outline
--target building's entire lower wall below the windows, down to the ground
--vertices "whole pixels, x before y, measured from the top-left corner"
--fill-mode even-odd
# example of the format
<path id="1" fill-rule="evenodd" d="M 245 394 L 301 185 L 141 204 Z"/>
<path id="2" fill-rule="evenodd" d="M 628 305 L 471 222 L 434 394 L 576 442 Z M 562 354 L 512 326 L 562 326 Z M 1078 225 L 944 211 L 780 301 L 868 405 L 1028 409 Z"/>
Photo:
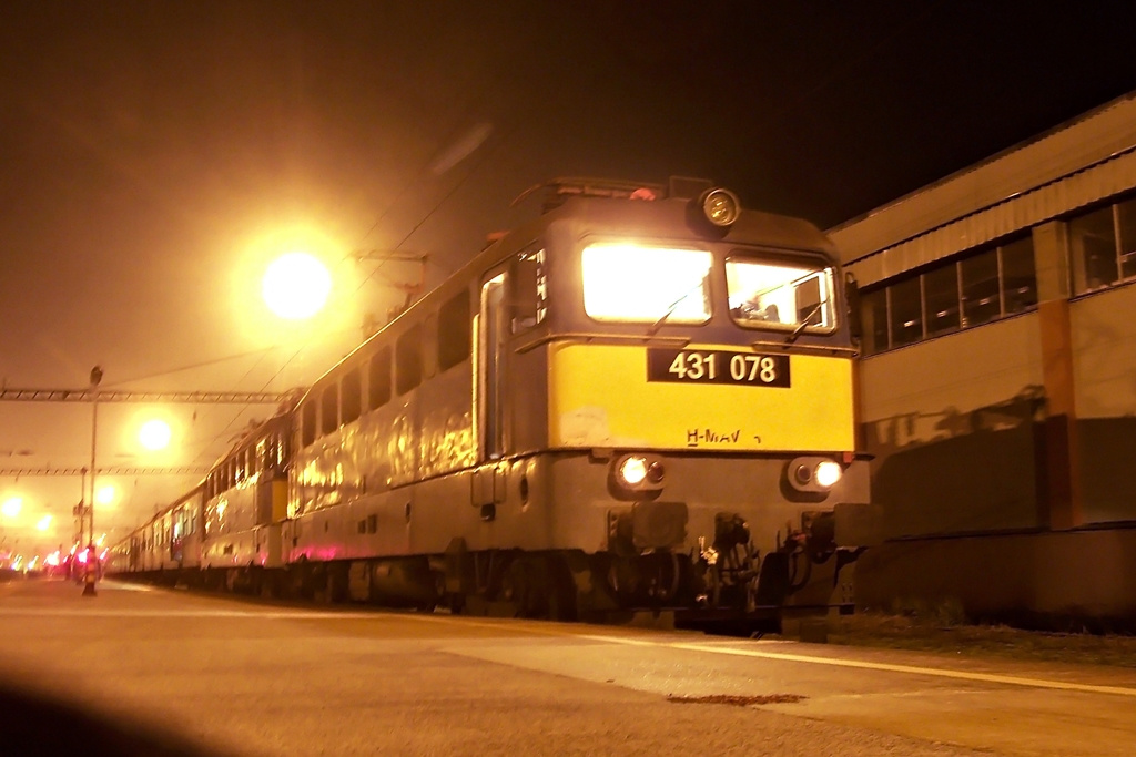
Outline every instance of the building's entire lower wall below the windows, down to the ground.
<path id="1" fill-rule="evenodd" d="M 861 361 L 872 497 L 892 539 L 857 563 L 861 607 L 1136 632 L 1136 286 L 1046 312 L 1066 321 L 1067 350 L 1043 346 L 1035 312 Z M 1068 385 L 1054 362 L 1071 362 Z M 1055 440 L 1061 404 L 1072 424 Z M 1071 529 L 1052 522 L 1054 496 L 1070 495 L 1052 490 L 1055 460 L 1074 479 Z"/>

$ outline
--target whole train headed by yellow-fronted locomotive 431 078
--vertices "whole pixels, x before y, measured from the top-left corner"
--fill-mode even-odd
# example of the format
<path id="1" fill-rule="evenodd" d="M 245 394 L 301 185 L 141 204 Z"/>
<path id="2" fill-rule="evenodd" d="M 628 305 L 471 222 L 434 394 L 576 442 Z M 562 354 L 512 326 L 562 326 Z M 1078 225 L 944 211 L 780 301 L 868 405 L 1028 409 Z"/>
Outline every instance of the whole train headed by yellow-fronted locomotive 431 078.
<path id="1" fill-rule="evenodd" d="M 694 179 L 542 188 L 536 220 L 269 421 L 286 444 L 218 464 L 195 570 L 332 599 L 753 628 L 849 599 L 840 567 L 874 511 L 832 244 Z"/>

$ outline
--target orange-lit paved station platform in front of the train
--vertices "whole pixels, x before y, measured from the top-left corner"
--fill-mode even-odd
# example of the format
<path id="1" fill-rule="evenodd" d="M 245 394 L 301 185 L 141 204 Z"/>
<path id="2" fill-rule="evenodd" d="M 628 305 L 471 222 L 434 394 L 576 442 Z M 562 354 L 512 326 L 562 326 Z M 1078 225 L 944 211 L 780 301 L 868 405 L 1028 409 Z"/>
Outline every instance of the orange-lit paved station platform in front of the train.
<path id="1" fill-rule="evenodd" d="M 0 681 L 23 754 L 1119 756 L 1136 737 L 1131 668 L 110 581 L 0 586 Z"/>

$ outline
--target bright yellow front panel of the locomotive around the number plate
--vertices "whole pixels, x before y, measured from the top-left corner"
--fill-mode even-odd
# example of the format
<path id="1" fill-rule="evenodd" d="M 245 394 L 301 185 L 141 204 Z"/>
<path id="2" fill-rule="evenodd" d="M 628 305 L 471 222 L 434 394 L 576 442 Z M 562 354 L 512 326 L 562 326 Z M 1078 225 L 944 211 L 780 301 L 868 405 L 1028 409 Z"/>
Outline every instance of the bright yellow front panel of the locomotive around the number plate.
<path id="1" fill-rule="evenodd" d="M 550 446 L 853 449 L 852 362 L 769 356 L 762 363 L 746 348 L 659 350 L 649 380 L 648 347 L 552 344 Z M 787 387 L 776 386 L 782 365 Z"/>

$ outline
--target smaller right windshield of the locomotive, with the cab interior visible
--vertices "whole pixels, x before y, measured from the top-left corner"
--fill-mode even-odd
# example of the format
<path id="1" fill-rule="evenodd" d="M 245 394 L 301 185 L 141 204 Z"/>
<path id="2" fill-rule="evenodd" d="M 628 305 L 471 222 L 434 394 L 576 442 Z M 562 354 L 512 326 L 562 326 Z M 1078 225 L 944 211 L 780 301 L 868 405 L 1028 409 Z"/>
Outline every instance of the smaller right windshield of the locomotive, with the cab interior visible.
<path id="1" fill-rule="evenodd" d="M 752 328 L 822 330 L 834 327 L 833 269 L 804 261 L 730 258 L 729 313 Z"/>

